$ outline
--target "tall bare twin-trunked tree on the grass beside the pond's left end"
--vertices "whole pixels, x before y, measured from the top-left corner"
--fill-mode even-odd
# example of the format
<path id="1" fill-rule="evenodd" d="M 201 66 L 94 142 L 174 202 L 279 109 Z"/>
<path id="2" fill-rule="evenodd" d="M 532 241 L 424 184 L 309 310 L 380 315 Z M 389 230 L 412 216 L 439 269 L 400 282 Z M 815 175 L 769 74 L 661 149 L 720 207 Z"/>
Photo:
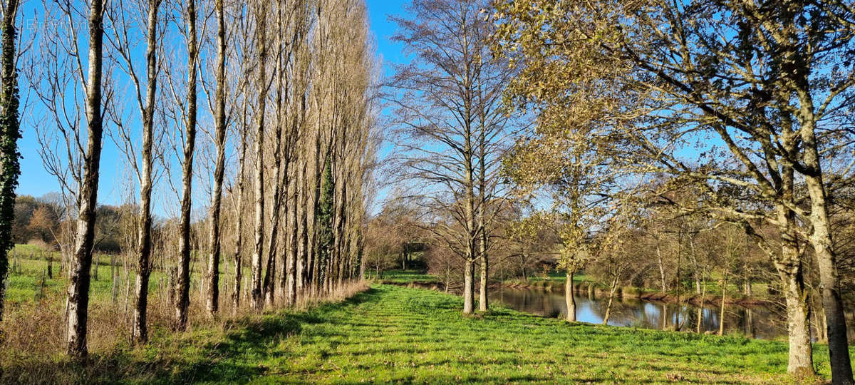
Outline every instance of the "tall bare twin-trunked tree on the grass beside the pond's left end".
<path id="1" fill-rule="evenodd" d="M 501 203 L 498 154 L 509 121 L 498 101 L 513 71 L 489 50 L 492 23 L 480 14 L 485 2 L 416 0 L 413 20 L 394 19 L 420 63 L 399 67 L 386 97 L 396 107 L 405 179 L 426 183 L 422 204 L 456 222 L 440 226 L 463 257 L 463 312 L 474 311 L 475 263 L 481 265 L 481 310 L 486 310 L 487 229 Z M 427 145 L 427 144 L 430 145 Z M 438 222 L 439 224 L 439 222 Z M 451 222 L 448 222 L 451 224 Z"/>

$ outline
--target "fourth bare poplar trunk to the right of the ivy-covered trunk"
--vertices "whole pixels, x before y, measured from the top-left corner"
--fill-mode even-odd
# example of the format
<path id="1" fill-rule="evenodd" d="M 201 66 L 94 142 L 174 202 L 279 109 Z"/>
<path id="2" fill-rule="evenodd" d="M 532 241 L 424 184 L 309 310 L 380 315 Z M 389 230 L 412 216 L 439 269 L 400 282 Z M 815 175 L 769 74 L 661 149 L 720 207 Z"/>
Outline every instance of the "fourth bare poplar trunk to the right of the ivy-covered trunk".
<path id="1" fill-rule="evenodd" d="M 214 196 L 211 197 L 210 254 L 208 258 L 208 314 L 213 317 L 220 310 L 220 212 L 222 180 L 226 169 L 226 10 L 225 0 L 216 0 L 217 63 L 215 91 Z"/>

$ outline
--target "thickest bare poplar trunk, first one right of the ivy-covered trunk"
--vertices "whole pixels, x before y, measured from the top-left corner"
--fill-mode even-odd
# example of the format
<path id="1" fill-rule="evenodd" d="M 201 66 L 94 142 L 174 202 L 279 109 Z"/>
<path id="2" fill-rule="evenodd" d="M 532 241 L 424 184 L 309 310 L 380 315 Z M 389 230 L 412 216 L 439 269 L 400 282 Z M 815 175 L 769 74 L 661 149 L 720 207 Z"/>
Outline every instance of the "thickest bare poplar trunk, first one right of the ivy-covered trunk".
<path id="1" fill-rule="evenodd" d="M 89 272 L 92 246 L 95 240 L 98 168 L 101 163 L 101 77 L 103 62 L 103 0 L 89 5 L 89 74 L 86 84 L 86 152 L 83 159 L 83 181 L 80 183 L 80 206 L 77 231 L 74 236 L 74 261 L 68 284 L 69 356 L 84 358 L 86 348 L 86 317 L 89 308 Z"/>

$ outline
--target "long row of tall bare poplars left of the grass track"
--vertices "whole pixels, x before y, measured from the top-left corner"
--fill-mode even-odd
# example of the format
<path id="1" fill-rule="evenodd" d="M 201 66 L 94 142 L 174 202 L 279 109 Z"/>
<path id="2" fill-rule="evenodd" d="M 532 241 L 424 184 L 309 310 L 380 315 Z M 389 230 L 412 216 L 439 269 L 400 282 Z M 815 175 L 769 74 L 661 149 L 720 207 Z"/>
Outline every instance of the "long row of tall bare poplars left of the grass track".
<path id="1" fill-rule="evenodd" d="M 3 14 L 3 110 L 13 113 L 16 104 L 7 101 L 15 93 L 7 97 L 7 91 L 14 91 L 16 83 L 15 5 L 10 0 Z M 362 0 L 41 5 L 44 23 L 38 25 L 40 36 L 32 37 L 38 50 L 19 56 L 38 64 L 22 70 L 34 108 L 48 117 L 48 126 L 37 128 L 42 157 L 68 187 L 69 205 L 76 209 L 66 310 L 69 355 L 87 354 L 104 133 L 139 186 L 134 343 L 148 340 L 148 287 L 156 266 L 152 201 L 164 179 L 180 205 L 176 330 L 188 326 L 192 258 L 206 265 L 204 300 L 211 317 L 225 300 L 235 311 L 244 305 L 245 274 L 251 276 L 246 305 L 256 311 L 295 305 L 362 276 L 363 182 L 374 157 L 376 114 L 374 51 Z M 122 86 L 127 92 L 117 92 Z M 69 105 L 85 112 L 75 117 Z M 17 124 L 7 129 L 14 118 L 3 113 L 3 251 L 10 248 L 6 213 L 14 207 L 17 175 L 17 157 L 6 155 L 7 142 L 14 153 L 20 136 Z M 208 157 L 199 155 L 203 140 L 213 149 Z M 211 164 L 200 167 L 205 162 Z M 210 181 L 210 201 L 200 203 L 193 199 L 200 195 L 193 182 L 203 178 Z M 192 211 L 200 207 L 209 237 L 194 243 Z M 224 212 L 229 209 L 233 216 Z M 232 219 L 227 222 L 227 217 Z M 4 253 L 0 276 L 5 276 L 6 261 Z M 222 263 L 233 266 L 234 281 L 225 286 L 233 293 L 220 293 Z M 244 265 L 251 271 L 244 273 Z"/>

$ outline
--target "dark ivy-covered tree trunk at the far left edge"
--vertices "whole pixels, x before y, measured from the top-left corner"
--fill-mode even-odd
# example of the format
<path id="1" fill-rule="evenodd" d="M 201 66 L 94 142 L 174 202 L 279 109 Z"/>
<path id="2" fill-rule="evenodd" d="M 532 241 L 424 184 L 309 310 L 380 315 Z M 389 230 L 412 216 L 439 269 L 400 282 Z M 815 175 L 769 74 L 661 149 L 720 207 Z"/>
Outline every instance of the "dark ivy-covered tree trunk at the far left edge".
<path id="1" fill-rule="evenodd" d="M 9 250 L 12 249 L 12 222 L 15 220 L 15 187 L 21 175 L 18 139 L 18 76 L 15 69 L 15 14 L 18 1 L 9 0 L 3 9 L 2 75 L 0 90 L 0 321 L 6 298 L 6 275 L 9 274 Z"/>

